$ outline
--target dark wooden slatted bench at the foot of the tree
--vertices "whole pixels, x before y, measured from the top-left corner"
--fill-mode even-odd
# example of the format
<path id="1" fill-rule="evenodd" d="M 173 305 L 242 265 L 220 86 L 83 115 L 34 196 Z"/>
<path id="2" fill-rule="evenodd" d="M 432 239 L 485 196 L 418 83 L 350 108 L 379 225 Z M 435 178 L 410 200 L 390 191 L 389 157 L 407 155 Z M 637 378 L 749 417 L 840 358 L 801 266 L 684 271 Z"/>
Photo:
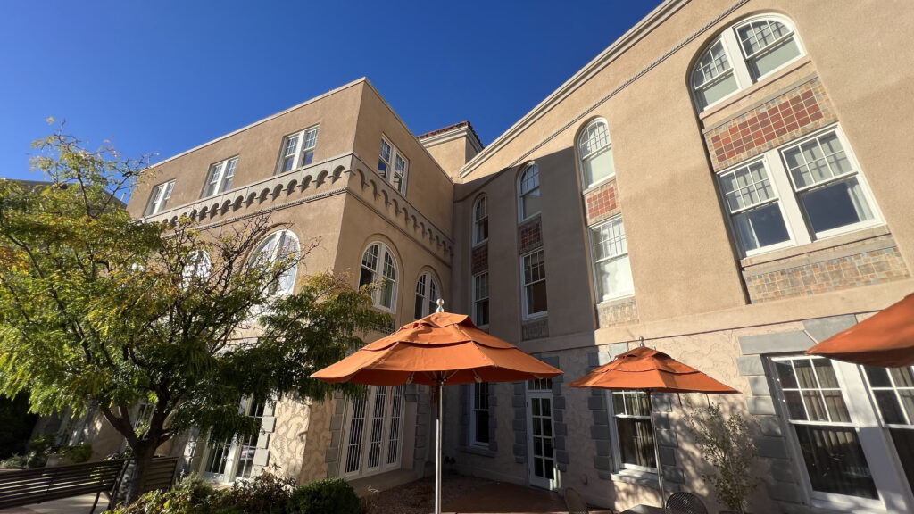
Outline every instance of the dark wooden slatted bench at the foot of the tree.
<path id="1" fill-rule="evenodd" d="M 101 493 L 109 498 L 108 509 L 130 459 L 103 460 L 71 466 L 39 467 L 0 474 L 0 509 L 21 507 L 33 503 L 71 498 L 95 493 L 91 512 L 99 503 Z M 150 463 L 140 493 L 167 489 L 175 481 L 177 457 L 157 457 Z"/>

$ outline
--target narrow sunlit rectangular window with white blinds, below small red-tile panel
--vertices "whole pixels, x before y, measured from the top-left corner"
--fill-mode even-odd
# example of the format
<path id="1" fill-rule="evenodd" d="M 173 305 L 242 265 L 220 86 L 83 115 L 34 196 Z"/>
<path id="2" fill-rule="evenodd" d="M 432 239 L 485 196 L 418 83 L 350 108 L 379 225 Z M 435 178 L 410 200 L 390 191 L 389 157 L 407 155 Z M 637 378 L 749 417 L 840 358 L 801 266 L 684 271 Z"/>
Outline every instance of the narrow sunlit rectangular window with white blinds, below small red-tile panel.
<path id="1" fill-rule="evenodd" d="M 592 227 L 590 241 L 600 301 L 634 293 L 622 217 Z"/>

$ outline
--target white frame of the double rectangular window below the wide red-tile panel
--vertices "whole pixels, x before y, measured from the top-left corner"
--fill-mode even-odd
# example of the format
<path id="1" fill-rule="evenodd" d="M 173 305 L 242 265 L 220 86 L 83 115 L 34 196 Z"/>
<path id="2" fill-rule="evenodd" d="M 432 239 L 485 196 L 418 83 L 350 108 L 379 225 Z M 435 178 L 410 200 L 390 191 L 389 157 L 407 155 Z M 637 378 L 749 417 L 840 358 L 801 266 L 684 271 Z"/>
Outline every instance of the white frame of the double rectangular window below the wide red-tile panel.
<path id="1" fill-rule="evenodd" d="M 808 222 L 808 220 L 806 220 L 806 216 L 803 213 L 801 207 L 801 200 L 799 198 L 799 195 L 803 191 L 806 191 L 812 187 L 802 188 L 800 191 L 796 190 L 796 188 L 793 186 L 793 179 L 790 177 L 790 171 L 784 162 L 783 153 L 799 145 L 803 145 L 812 139 L 817 139 L 825 134 L 833 132 L 837 135 L 838 141 L 841 143 L 845 151 L 847 160 L 849 161 L 850 165 L 854 167 L 855 171 L 853 173 L 845 173 L 840 177 L 832 177 L 828 181 L 816 184 L 813 187 L 826 187 L 830 184 L 834 184 L 834 182 L 846 180 L 849 177 L 856 177 L 857 182 L 860 184 L 860 189 L 863 193 L 863 197 L 866 199 L 867 206 L 873 214 L 873 219 L 859 221 L 851 225 L 845 225 L 844 227 L 837 227 L 831 230 L 824 230 L 823 232 L 815 233 L 813 232 L 812 225 Z M 781 217 L 783 218 L 784 223 L 787 225 L 787 232 L 790 235 L 790 240 L 760 247 L 747 252 L 743 242 L 739 239 L 739 233 L 737 232 L 735 222 L 732 220 L 733 216 L 730 213 L 727 198 L 724 195 L 723 188 L 720 187 L 720 177 L 727 175 L 728 173 L 739 168 L 754 164 L 758 161 L 762 161 L 764 163 L 765 171 L 768 173 L 769 179 L 771 181 L 771 187 L 774 190 L 774 194 L 777 196 L 776 201 L 778 202 L 778 205 L 781 209 Z M 726 218 L 730 233 L 733 234 L 734 241 L 737 242 L 739 253 L 743 257 L 750 257 L 760 253 L 773 252 L 776 250 L 781 250 L 782 248 L 802 246 L 813 241 L 820 241 L 834 236 L 855 232 L 857 230 L 865 230 L 885 223 L 882 218 L 882 213 L 876 203 L 876 198 L 873 197 L 873 193 L 869 188 L 869 184 L 866 181 L 863 170 L 860 169 L 860 165 L 856 160 L 854 150 L 847 142 L 847 138 L 845 137 L 845 133 L 841 129 L 841 126 L 836 123 L 829 125 L 828 127 L 824 127 L 823 129 L 818 130 L 814 133 L 805 134 L 802 137 L 794 139 L 784 145 L 771 148 L 762 155 L 754 156 L 751 159 L 747 159 L 735 166 L 729 166 L 725 169 L 722 169 L 715 174 L 715 181 L 717 182 L 717 193 L 719 195 L 720 201 L 722 202 L 723 209 L 726 209 Z M 739 212 L 742 212 L 742 210 L 739 210 Z"/>

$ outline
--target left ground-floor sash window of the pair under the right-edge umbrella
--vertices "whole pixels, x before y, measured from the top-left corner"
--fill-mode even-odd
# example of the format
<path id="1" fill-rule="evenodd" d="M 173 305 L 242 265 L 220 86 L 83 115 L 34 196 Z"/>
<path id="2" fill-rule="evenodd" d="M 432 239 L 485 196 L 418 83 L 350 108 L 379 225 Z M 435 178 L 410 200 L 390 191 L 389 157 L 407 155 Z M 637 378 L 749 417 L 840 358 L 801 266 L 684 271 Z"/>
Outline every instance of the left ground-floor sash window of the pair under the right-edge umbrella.
<path id="1" fill-rule="evenodd" d="M 878 498 L 832 361 L 793 357 L 772 364 L 813 491 Z"/>

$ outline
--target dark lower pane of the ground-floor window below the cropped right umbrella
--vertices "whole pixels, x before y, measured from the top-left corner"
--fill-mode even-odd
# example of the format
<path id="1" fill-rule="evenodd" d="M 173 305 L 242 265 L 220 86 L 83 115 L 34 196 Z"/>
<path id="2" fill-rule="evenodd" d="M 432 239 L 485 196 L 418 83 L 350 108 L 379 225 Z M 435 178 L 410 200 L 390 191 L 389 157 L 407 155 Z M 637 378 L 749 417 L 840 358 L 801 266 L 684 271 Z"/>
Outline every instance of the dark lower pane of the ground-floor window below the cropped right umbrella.
<path id="1" fill-rule="evenodd" d="M 855 429 L 799 424 L 793 428 L 814 490 L 877 498 L 876 484 Z"/>

